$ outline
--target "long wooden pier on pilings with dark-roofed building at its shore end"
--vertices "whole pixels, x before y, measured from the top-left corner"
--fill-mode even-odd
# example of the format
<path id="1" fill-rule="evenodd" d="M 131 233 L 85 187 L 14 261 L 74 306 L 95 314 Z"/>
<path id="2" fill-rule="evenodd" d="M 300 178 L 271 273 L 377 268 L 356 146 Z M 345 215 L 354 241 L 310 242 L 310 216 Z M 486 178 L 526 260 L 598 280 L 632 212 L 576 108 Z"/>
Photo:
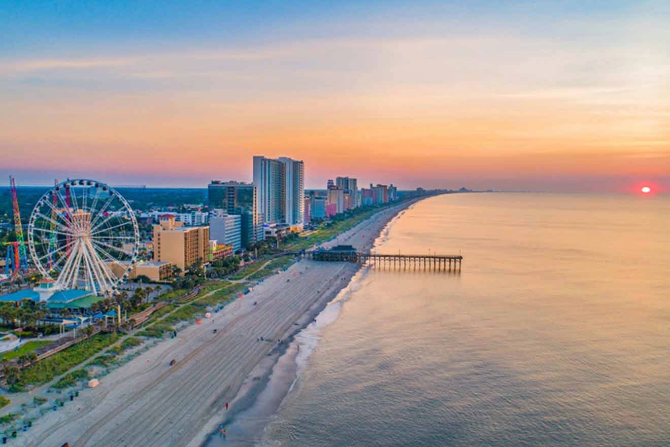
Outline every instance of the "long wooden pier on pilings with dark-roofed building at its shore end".
<path id="1" fill-rule="evenodd" d="M 461 255 L 384 255 L 380 253 L 358 253 L 352 250 L 317 250 L 300 253 L 315 261 L 355 262 L 364 265 L 379 265 L 393 269 L 423 269 L 433 271 L 460 271 Z"/>

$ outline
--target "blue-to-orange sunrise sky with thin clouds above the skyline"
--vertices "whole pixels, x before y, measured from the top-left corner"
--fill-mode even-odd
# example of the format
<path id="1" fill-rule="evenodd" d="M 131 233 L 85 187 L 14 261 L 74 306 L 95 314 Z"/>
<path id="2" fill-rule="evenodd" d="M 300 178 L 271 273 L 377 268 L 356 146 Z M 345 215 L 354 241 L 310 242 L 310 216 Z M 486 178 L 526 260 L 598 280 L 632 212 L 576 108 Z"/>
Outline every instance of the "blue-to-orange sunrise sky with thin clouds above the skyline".
<path id="1" fill-rule="evenodd" d="M 19 184 L 670 191 L 667 1 L 0 1 Z"/>

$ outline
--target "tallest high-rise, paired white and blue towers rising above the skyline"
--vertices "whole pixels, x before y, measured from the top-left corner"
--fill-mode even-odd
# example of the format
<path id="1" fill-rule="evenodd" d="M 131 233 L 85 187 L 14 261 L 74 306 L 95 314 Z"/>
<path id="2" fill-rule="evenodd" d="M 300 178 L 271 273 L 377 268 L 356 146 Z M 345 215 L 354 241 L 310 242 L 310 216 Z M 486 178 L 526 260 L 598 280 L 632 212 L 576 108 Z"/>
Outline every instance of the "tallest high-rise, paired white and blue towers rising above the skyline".
<path id="1" fill-rule="evenodd" d="M 253 157 L 253 181 L 258 186 L 257 208 L 265 224 L 283 223 L 302 227 L 305 167 L 288 157 Z"/>

